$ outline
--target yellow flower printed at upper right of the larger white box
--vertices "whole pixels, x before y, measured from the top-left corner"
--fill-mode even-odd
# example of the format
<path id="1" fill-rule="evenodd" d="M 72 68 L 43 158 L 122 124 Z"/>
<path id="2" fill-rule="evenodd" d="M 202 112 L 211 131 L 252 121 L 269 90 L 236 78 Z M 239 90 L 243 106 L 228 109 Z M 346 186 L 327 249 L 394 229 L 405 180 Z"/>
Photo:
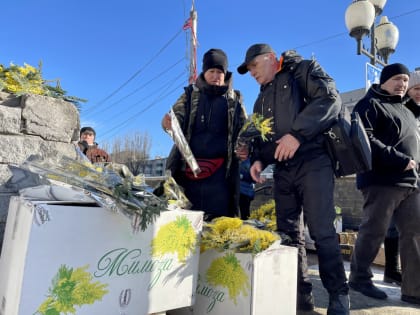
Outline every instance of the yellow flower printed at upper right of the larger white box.
<path id="1" fill-rule="evenodd" d="M 178 216 L 175 221 L 160 227 L 152 240 L 152 256 L 162 256 L 177 253 L 178 260 L 185 263 L 194 252 L 197 245 L 197 233 L 185 215 Z"/>

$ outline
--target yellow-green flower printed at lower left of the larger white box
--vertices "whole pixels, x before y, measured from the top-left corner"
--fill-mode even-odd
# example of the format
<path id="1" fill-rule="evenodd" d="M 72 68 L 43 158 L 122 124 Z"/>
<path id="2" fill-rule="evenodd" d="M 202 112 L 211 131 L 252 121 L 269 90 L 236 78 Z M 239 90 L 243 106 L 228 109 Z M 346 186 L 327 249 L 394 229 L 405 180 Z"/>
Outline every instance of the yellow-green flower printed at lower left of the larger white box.
<path id="1" fill-rule="evenodd" d="M 53 286 L 45 301 L 39 306 L 35 314 L 76 314 L 75 306 L 93 304 L 108 293 L 107 284 L 99 281 L 92 282 L 92 275 L 86 271 L 88 266 L 68 268 L 60 267 Z"/>

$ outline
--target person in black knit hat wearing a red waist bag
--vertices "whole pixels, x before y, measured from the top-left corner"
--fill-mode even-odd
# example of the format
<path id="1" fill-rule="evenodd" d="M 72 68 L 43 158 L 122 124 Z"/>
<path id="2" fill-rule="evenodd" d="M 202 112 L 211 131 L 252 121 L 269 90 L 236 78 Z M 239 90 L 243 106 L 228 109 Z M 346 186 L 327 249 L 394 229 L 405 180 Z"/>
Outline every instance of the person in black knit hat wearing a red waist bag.
<path id="1" fill-rule="evenodd" d="M 204 211 L 210 221 L 234 216 L 239 201 L 239 160 L 235 143 L 246 112 L 239 91 L 232 89 L 232 73 L 221 49 L 203 56 L 203 71 L 195 84 L 185 88 L 172 107 L 201 172 L 194 176 L 174 146 L 167 168 L 184 188 L 191 209 Z M 171 118 L 163 117 L 162 127 L 171 130 Z"/>

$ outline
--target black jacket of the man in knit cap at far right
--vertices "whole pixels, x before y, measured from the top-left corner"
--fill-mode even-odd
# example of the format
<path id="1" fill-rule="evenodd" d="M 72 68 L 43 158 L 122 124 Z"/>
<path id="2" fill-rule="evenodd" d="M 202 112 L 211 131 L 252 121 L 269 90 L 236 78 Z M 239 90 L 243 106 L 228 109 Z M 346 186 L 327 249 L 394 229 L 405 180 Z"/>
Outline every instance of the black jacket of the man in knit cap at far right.
<path id="1" fill-rule="evenodd" d="M 357 187 L 417 187 L 416 169 L 404 171 L 411 159 L 420 162 L 418 109 L 408 97 L 390 95 L 374 84 L 356 104 L 372 148 L 372 170 L 357 175 Z M 413 112 L 415 114 L 413 114 Z"/>

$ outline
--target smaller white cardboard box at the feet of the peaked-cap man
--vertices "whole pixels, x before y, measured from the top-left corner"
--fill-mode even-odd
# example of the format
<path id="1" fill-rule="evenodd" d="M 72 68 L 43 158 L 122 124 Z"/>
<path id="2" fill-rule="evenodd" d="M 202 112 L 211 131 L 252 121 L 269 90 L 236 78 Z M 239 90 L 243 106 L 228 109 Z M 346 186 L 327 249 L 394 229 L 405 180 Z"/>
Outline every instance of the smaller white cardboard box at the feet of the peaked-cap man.
<path id="1" fill-rule="evenodd" d="M 295 315 L 297 287 L 297 248 L 274 243 L 269 249 L 253 256 L 233 254 L 240 266 L 224 276 L 226 282 L 239 274 L 246 275 L 246 283 L 236 287 L 212 285 L 207 272 L 212 264 L 228 255 L 228 251 L 208 250 L 200 255 L 199 278 L 195 304 L 192 307 L 168 311 L 170 315 Z M 222 270 L 222 269 L 220 269 Z M 210 280 L 211 281 L 211 280 Z M 238 282 L 237 282 L 238 283 Z"/>

